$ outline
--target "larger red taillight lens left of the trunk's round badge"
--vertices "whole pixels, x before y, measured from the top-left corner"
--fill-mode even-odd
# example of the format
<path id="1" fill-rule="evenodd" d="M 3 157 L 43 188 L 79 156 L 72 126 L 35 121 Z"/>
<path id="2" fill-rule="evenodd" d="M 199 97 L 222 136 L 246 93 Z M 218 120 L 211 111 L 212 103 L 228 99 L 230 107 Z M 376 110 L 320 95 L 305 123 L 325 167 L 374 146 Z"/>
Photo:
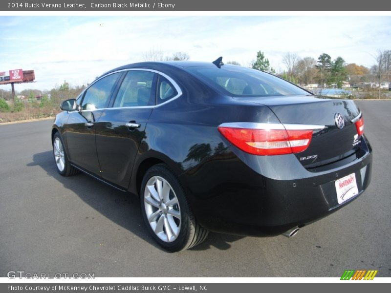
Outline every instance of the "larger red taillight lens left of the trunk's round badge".
<path id="1" fill-rule="evenodd" d="M 304 151 L 310 144 L 312 129 L 249 129 L 218 127 L 232 144 L 253 155 L 282 155 Z"/>

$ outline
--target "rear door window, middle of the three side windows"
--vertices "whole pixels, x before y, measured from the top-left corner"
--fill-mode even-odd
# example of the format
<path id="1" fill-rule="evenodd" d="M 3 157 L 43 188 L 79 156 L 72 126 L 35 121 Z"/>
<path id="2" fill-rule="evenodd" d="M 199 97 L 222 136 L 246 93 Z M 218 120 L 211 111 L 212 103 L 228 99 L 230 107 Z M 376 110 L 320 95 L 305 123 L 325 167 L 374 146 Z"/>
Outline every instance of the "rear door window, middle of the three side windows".
<path id="1" fill-rule="evenodd" d="M 130 70 L 119 88 L 113 107 L 155 105 L 156 73 Z"/>

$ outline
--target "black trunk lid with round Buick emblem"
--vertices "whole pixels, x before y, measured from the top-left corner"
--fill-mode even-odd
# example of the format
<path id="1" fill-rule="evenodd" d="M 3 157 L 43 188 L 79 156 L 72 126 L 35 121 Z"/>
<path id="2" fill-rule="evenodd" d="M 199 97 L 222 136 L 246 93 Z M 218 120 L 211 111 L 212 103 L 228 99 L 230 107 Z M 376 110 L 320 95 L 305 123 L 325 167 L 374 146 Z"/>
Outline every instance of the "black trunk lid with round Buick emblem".
<path id="1" fill-rule="evenodd" d="M 280 96 L 236 98 L 268 106 L 283 124 L 306 124 L 326 126 L 314 130 L 310 145 L 303 152 L 295 154 L 306 168 L 318 167 L 344 159 L 360 148 L 360 137 L 352 119 L 360 110 L 351 100 L 322 96 Z M 338 128 L 335 115 L 340 113 L 345 121 Z"/>

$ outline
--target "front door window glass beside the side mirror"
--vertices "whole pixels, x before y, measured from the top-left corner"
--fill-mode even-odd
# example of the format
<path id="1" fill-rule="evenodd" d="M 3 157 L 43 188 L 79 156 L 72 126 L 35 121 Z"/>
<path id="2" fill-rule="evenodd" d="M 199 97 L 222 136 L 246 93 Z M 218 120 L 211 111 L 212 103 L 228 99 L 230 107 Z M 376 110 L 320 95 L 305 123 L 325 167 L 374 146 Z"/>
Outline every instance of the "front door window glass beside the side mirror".
<path id="1" fill-rule="evenodd" d="M 120 72 L 110 74 L 88 87 L 82 101 L 82 110 L 106 108 L 111 91 L 120 75 Z"/>

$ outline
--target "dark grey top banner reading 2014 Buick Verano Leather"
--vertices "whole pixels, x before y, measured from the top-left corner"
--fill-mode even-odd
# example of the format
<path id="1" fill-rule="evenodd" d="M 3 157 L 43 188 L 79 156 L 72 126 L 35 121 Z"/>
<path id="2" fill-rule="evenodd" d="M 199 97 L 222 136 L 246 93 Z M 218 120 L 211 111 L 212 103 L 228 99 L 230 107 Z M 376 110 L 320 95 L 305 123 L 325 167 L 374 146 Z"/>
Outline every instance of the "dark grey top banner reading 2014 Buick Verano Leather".
<path id="1" fill-rule="evenodd" d="M 5 0 L 2 11 L 390 11 L 385 0 Z"/>

